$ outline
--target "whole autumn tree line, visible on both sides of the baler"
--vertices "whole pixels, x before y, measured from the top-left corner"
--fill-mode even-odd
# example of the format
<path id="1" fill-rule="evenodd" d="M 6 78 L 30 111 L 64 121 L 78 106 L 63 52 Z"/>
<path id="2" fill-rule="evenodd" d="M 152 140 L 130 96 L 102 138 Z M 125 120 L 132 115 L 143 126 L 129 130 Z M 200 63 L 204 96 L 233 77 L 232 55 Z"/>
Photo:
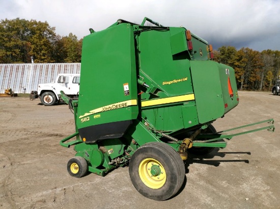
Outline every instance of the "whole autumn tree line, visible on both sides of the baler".
<path id="1" fill-rule="evenodd" d="M 80 62 L 82 39 L 69 33 L 61 37 L 47 22 L 25 19 L 1 20 L 0 63 Z M 240 90 L 270 90 L 280 75 L 280 51 L 237 50 L 222 46 L 214 60 L 235 69 Z"/>

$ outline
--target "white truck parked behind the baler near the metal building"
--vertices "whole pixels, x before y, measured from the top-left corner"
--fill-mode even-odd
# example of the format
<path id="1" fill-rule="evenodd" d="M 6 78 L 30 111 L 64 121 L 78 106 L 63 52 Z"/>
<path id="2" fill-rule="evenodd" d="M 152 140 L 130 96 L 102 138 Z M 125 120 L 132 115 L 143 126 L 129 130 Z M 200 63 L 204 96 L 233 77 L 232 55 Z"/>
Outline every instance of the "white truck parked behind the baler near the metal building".
<path id="1" fill-rule="evenodd" d="M 55 82 L 38 85 L 38 97 L 44 106 L 52 106 L 60 102 L 60 91 L 71 97 L 77 98 L 80 85 L 79 74 L 59 74 Z"/>

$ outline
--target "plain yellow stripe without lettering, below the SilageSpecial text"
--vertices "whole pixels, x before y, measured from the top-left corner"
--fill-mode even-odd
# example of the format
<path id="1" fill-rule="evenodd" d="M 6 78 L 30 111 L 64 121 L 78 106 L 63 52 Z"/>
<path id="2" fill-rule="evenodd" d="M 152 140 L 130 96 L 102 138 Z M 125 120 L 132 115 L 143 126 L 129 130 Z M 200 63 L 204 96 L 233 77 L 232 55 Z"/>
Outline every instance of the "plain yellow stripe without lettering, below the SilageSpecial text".
<path id="1" fill-rule="evenodd" d="M 180 102 L 180 101 L 189 101 L 194 100 L 194 94 L 188 94 L 188 95 L 182 95 L 182 96 L 173 96 L 163 99 L 154 99 L 149 101 L 142 101 L 142 107 L 149 107 L 154 105 L 163 105 L 167 103 L 174 103 L 174 102 Z"/>

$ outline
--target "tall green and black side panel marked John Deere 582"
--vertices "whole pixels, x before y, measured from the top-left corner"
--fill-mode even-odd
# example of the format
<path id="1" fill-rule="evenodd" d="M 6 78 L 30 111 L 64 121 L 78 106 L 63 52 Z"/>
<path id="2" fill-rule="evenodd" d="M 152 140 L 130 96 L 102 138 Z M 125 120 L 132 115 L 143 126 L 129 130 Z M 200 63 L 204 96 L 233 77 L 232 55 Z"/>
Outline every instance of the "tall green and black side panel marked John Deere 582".
<path id="1" fill-rule="evenodd" d="M 120 137 L 137 114 L 132 26 L 123 23 L 85 37 L 76 122 L 81 138 Z"/>

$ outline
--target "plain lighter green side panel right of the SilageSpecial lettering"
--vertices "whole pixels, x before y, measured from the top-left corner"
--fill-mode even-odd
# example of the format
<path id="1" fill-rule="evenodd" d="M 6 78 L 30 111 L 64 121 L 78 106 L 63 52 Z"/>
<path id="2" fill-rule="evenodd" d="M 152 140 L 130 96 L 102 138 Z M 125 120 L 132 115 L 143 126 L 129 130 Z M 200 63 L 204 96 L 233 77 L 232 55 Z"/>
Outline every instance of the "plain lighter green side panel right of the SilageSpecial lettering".
<path id="1" fill-rule="evenodd" d="M 190 71 L 199 123 L 220 118 L 225 113 L 218 63 L 190 61 Z"/>

